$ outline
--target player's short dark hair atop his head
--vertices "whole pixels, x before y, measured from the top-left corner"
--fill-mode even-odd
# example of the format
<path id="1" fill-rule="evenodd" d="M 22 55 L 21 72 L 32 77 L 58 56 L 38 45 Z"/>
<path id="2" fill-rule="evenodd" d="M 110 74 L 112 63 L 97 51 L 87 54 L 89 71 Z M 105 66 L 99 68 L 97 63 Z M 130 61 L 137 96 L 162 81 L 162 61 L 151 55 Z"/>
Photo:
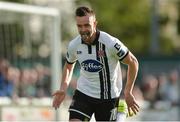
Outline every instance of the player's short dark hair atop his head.
<path id="1" fill-rule="evenodd" d="M 87 14 L 95 15 L 94 11 L 86 6 L 81 6 L 76 9 L 76 16 L 86 16 Z"/>

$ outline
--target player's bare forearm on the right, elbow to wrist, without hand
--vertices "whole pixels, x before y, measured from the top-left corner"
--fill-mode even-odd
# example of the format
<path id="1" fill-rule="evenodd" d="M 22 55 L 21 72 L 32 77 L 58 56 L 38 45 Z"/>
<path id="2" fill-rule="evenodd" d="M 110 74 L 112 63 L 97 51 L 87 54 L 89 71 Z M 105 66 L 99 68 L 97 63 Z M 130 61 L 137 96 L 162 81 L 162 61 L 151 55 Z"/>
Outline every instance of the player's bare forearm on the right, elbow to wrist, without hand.
<path id="1" fill-rule="evenodd" d="M 130 63 L 128 64 L 127 82 L 124 90 L 125 94 L 132 93 L 134 83 L 137 77 L 138 69 L 139 69 L 139 63 L 137 59 L 134 56 L 132 56 L 130 59 Z"/>

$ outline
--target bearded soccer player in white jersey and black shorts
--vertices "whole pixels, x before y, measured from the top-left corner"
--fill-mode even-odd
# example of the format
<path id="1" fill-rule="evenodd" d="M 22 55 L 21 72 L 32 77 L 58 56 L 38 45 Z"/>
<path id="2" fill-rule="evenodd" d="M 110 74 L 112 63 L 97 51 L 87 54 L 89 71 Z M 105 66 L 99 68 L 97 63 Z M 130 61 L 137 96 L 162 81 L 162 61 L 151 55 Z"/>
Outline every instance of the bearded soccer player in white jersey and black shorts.
<path id="1" fill-rule="evenodd" d="M 57 109 L 66 95 L 75 62 L 79 62 L 80 77 L 77 80 L 70 121 L 89 121 L 94 114 L 97 121 L 116 120 L 117 105 L 122 89 L 120 62 L 128 65 L 124 95 L 128 110 L 135 114 L 139 105 L 132 94 L 138 72 L 138 61 L 117 38 L 96 28 L 95 13 L 88 7 L 76 9 L 79 35 L 68 46 L 60 89 L 53 96 Z"/>

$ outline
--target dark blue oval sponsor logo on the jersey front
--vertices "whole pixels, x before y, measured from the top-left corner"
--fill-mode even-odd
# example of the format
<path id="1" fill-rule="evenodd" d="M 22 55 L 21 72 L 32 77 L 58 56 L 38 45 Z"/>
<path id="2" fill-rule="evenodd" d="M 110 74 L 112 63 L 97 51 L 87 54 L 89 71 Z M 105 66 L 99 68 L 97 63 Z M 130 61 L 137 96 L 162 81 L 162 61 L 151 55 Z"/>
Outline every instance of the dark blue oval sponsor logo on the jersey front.
<path id="1" fill-rule="evenodd" d="M 99 61 L 88 59 L 81 63 L 81 67 L 88 72 L 99 72 L 103 68 L 103 64 Z"/>

